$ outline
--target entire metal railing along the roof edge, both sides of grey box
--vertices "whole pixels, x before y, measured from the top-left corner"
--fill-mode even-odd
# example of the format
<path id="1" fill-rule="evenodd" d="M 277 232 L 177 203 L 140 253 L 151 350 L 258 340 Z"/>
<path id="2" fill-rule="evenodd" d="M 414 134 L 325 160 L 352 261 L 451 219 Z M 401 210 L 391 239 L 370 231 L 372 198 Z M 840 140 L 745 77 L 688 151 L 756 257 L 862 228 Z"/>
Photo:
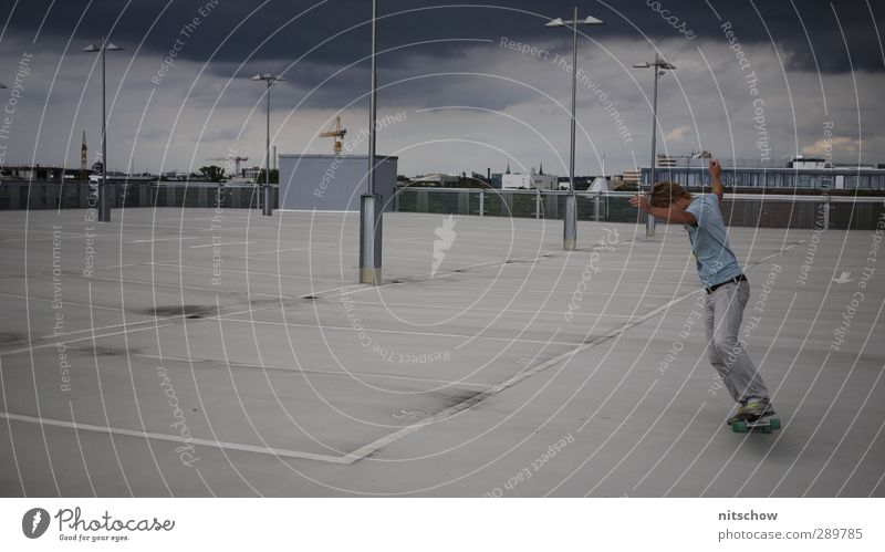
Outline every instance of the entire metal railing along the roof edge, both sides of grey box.
<path id="1" fill-rule="evenodd" d="M 209 183 L 112 184 L 113 208 L 178 207 L 258 208 L 260 187 Z M 85 181 L 33 181 L 3 179 L 2 209 L 84 209 L 94 190 Z M 279 188 L 272 187 L 274 208 Z M 419 188 L 396 190 L 394 210 L 478 217 L 562 219 L 566 191 L 499 190 L 492 188 Z M 577 191 L 577 219 L 600 222 L 637 222 L 629 205 L 632 191 Z M 872 230 L 885 216 L 885 198 L 863 196 L 794 196 L 726 194 L 721 205 L 726 223 L 760 228 L 832 228 Z"/>

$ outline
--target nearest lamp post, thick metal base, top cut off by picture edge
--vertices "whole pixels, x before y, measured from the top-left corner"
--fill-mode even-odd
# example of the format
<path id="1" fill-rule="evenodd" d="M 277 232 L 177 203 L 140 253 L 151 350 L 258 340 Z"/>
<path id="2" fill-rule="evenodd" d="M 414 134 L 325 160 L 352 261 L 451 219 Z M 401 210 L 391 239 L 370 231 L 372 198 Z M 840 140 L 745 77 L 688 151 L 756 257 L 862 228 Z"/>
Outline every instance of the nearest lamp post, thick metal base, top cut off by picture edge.
<path id="1" fill-rule="evenodd" d="M 375 194 L 375 108 L 378 77 L 375 72 L 376 6 L 372 0 L 372 72 L 368 93 L 368 186 L 360 197 L 360 283 L 381 283 L 381 246 L 383 206 Z"/>

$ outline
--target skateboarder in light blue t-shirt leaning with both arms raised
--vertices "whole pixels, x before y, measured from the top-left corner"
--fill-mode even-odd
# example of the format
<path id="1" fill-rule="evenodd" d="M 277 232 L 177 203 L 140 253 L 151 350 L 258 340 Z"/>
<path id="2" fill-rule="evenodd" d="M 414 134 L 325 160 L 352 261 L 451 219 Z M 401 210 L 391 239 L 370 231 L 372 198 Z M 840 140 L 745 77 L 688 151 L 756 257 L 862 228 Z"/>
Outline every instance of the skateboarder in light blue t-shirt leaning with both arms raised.
<path id="1" fill-rule="evenodd" d="M 752 423 L 774 414 L 774 409 L 762 377 L 738 341 L 750 284 L 728 243 L 719 210 L 725 192 L 719 180 L 722 170 L 719 162 L 711 160 L 709 170 L 712 194 L 693 196 L 678 184 L 658 183 L 647 202 L 641 195 L 633 196 L 629 202 L 656 218 L 680 223 L 688 231 L 698 275 L 707 293 L 704 322 L 709 361 L 722 377 L 731 398 L 738 403 L 738 409 L 728 424 Z"/>

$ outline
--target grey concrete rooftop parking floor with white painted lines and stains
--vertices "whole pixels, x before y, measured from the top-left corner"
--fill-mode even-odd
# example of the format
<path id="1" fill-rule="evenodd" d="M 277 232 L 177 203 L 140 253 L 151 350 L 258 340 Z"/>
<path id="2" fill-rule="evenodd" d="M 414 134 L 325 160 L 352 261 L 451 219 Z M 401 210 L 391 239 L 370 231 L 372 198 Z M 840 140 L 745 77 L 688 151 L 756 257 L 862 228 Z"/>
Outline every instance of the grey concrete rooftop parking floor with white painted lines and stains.
<path id="1" fill-rule="evenodd" d="M 85 215 L 0 218 L 2 496 L 885 496 L 872 232 L 730 229 L 740 435 L 680 227 L 389 213 L 373 288 L 355 213 Z"/>

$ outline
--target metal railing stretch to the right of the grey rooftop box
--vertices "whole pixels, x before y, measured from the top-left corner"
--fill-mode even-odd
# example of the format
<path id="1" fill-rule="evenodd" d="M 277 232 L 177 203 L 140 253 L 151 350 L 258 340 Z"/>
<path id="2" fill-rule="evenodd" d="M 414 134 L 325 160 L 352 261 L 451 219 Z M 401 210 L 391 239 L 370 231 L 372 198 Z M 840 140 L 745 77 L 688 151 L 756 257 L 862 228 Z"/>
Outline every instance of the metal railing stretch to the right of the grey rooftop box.
<path id="1" fill-rule="evenodd" d="M 398 188 L 394 210 L 478 217 L 562 219 L 566 191 L 480 188 Z M 577 191 L 577 219 L 638 222 L 629 205 L 634 191 Z M 726 194 L 722 217 L 729 226 L 759 228 L 875 229 L 885 216 L 885 198 Z"/>

